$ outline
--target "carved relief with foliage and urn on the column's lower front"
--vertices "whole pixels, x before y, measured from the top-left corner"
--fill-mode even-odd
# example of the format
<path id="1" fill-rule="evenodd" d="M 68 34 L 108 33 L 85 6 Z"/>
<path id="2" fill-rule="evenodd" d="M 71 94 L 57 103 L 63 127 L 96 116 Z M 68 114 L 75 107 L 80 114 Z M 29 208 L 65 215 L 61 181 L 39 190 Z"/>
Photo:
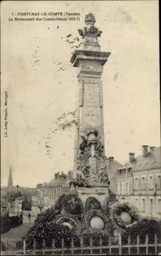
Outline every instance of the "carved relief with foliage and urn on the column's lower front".
<path id="1" fill-rule="evenodd" d="M 96 129 L 81 135 L 77 170 L 78 186 L 109 185 L 108 175 L 105 174 L 104 146 Z"/>

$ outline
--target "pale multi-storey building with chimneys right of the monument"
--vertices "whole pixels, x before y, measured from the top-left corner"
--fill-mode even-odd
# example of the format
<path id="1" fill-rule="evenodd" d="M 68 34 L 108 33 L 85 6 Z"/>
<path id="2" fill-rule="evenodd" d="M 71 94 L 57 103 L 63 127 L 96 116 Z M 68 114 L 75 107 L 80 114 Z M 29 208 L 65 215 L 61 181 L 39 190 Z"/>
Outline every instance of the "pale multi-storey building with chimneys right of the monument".
<path id="1" fill-rule="evenodd" d="M 142 155 L 129 153 L 117 169 L 117 197 L 137 207 L 143 217 L 161 219 L 161 147 L 142 146 Z"/>

